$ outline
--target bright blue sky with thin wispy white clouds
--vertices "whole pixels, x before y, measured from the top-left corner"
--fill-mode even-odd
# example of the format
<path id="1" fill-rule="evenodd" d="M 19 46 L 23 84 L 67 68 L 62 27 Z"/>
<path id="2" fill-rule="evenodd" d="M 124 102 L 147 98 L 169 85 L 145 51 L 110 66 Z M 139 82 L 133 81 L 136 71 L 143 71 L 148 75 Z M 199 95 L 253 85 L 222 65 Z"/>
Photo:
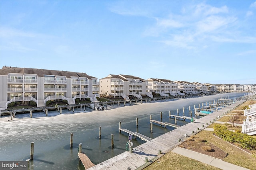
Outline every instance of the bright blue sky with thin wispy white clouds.
<path id="1" fill-rule="evenodd" d="M 0 0 L 0 68 L 256 84 L 255 0 Z"/>

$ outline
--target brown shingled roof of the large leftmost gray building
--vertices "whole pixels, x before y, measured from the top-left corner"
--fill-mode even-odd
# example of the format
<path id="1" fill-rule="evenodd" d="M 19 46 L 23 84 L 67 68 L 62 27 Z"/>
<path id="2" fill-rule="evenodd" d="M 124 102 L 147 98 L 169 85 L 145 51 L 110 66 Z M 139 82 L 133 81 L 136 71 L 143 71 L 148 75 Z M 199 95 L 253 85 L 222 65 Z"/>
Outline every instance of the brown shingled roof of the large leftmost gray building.
<path id="1" fill-rule="evenodd" d="M 44 75 L 54 75 L 54 76 L 66 76 L 66 78 L 71 78 L 71 76 L 86 77 L 88 79 L 96 78 L 82 72 L 45 70 L 45 69 L 38 69 L 38 68 L 19 68 L 19 67 L 11 67 L 11 66 L 10 67 L 3 66 L 3 68 L 0 69 L 0 75 L 8 75 L 9 73 L 37 74 L 38 77 L 44 77 Z"/>

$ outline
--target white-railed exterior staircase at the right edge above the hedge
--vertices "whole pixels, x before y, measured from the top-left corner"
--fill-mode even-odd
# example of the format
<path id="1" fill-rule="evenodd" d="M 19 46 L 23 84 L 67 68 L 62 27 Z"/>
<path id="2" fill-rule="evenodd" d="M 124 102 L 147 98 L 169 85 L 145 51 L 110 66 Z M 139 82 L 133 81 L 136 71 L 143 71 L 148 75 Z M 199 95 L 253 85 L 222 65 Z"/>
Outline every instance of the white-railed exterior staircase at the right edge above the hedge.
<path id="1" fill-rule="evenodd" d="M 250 105 L 250 109 L 244 110 L 244 116 L 246 116 L 246 120 L 242 125 L 242 133 L 246 133 L 248 135 L 256 134 L 256 104 Z"/>

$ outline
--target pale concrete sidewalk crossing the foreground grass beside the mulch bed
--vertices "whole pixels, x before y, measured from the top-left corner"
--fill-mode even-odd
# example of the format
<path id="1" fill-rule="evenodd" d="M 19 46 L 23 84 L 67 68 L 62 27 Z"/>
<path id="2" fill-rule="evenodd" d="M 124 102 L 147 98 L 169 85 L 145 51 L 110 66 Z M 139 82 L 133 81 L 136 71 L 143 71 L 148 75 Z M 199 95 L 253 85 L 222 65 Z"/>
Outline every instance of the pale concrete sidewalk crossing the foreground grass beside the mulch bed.
<path id="1" fill-rule="evenodd" d="M 194 159 L 194 160 L 198 160 L 200 162 L 203 162 L 203 163 L 211 165 L 211 166 L 215 166 L 222 170 L 248 170 L 247 168 L 243 168 L 241 166 L 230 164 L 230 163 L 220 160 L 218 158 L 214 158 L 212 156 L 194 152 L 192 150 L 184 149 L 181 147 L 174 148 L 172 150 L 172 152 L 181 154 L 183 156 L 186 156 L 186 157 Z"/>

